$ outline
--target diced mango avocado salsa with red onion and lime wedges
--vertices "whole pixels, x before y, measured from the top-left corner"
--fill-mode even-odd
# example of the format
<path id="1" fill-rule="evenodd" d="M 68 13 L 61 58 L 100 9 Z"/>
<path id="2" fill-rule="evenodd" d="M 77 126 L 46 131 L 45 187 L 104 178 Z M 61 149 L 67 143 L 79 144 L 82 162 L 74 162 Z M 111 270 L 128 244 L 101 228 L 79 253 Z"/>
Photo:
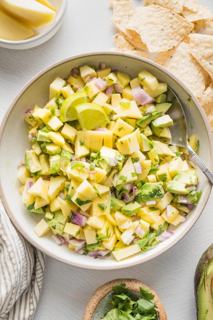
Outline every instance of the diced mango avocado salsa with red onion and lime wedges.
<path id="1" fill-rule="evenodd" d="M 25 112 L 29 124 L 18 178 L 37 236 L 93 258 L 121 260 L 168 239 L 202 192 L 186 150 L 170 138 L 167 84 L 148 70 L 73 68 L 50 84 L 49 101 Z M 189 144 L 196 149 L 195 135 Z"/>

